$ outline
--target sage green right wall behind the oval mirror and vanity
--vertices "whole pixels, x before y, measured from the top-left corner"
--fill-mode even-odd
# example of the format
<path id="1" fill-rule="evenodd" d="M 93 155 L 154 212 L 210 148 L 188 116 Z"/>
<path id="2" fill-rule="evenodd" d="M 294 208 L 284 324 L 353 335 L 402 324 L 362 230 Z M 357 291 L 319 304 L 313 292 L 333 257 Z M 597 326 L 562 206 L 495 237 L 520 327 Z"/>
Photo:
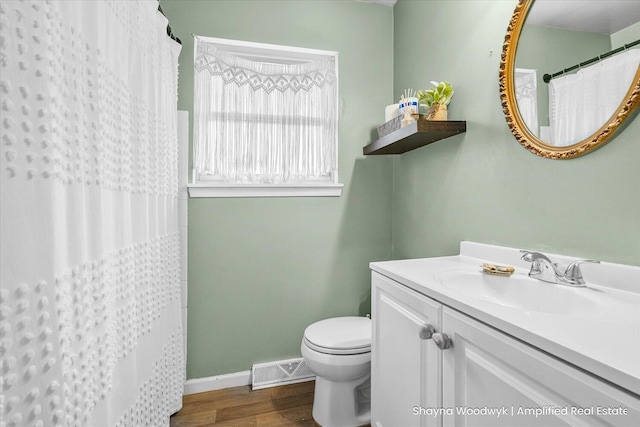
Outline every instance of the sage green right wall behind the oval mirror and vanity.
<path id="1" fill-rule="evenodd" d="M 640 265 L 640 119 L 576 159 L 521 147 L 498 89 L 515 5 L 400 0 L 394 8 L 394 93 L 448 80 L 449 119 L 467 121 L 466 134 L 394 158 L 394 257 L 455 254 L 472 240 Z"/>

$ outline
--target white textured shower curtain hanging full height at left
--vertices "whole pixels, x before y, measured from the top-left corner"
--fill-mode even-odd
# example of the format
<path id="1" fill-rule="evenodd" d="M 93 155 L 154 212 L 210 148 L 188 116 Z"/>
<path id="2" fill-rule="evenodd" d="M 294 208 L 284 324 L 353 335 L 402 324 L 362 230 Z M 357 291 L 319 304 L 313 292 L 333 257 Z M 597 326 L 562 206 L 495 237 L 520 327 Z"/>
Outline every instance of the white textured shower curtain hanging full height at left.
<path id="1" fill-rule="evenodd" d="M 0 2 L 3 426 L 167 426 L 180 46 L 157 1 Z"/>

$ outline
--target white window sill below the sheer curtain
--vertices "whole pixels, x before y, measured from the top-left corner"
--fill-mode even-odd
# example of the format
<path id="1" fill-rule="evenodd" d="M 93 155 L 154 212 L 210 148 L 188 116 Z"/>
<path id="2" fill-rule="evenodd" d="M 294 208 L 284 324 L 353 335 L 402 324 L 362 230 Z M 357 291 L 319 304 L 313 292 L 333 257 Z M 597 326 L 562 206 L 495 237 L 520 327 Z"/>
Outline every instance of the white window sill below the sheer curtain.
<path id="1" fill-rule="evenodd" d="M 189 197 L 340 197 L 344 184 L 189 184 Z"/>

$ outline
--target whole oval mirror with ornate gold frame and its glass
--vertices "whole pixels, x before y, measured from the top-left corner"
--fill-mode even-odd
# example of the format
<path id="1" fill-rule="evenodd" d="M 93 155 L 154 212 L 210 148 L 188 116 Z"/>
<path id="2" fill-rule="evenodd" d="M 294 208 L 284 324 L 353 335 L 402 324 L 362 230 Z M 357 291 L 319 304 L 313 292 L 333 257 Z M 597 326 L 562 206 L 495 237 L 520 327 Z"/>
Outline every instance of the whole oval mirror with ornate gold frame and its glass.
<path id="1" fill-rule="evenodd" d="M 640 104 L 640 0 L 520 0 L 499 78 L 527 150 L 569 159 L 601 146 Z"/>

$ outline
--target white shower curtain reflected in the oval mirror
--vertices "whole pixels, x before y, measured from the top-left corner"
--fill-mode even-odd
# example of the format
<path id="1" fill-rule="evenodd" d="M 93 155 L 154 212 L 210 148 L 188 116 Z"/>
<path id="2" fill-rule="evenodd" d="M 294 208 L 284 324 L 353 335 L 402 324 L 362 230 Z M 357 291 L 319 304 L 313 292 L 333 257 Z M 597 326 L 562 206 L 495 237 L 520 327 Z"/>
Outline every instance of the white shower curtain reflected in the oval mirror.
<path id="1" fill-rule="evenodd" d="M 575 144 L 593 135 L 613 116 L 639 66 L 640 49 L 631 49 L 551 80 L 551 144 Z"/>

